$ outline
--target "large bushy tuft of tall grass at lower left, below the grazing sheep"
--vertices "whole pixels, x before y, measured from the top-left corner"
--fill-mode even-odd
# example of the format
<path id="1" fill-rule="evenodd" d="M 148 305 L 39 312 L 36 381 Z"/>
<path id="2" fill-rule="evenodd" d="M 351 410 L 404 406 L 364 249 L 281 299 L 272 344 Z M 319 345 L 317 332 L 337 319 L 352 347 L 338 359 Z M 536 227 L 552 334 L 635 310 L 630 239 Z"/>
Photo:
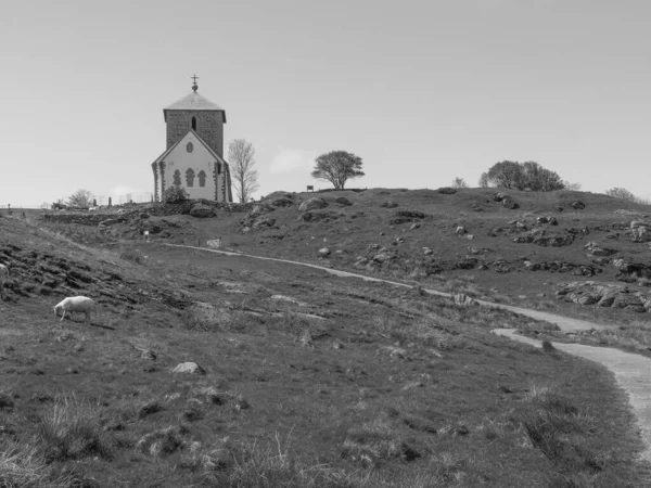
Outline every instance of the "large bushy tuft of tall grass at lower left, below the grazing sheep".
<path id="1" fill-rule="evenodd" d="M 39 424 L 39 439 L 48 461 L 66 461 L 88 455 L 110 459 L 112 448 L 102 428 L 99 404 L 75 396 L 56 399 Z"/>

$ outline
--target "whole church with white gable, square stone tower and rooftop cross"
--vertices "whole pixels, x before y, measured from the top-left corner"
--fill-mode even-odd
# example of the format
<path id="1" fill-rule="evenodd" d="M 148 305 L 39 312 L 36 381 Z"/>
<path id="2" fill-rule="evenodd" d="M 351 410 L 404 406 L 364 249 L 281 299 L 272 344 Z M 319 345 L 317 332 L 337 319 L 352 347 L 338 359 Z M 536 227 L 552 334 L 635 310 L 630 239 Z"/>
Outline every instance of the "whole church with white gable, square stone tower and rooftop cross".
<path id="1" fill-rule="evenodd" d="M 167 150 L 152 163 L 154 200 L 165 190 L 180 187 L 190 198 L 232 202 L 228 163 L 224 159 L 226 112 L 196 91 L 163 110 Z"/>

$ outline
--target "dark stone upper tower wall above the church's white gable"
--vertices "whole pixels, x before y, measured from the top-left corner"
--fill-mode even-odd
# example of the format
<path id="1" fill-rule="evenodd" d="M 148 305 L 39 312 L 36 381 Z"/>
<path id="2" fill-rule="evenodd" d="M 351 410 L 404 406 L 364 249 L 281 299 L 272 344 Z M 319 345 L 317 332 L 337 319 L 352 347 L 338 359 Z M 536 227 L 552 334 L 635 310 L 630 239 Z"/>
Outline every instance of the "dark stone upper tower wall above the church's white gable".
<path id="1" fill-rule="evenodd" d="M 167 149 L 192 128 L 192 117 L 196 118 L 195 132 L 213 151 L 224 157 L 224 113 L 217 111 L 168 111 Z"/>

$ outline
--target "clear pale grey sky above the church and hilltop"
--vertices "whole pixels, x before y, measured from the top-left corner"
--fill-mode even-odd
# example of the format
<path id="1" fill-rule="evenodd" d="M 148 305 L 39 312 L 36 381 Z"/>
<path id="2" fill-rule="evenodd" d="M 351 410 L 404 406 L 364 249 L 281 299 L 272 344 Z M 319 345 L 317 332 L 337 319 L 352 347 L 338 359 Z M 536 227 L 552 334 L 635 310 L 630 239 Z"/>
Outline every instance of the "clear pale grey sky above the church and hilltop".
<path id="1" fill-rule="evenodd" d="M 476 187 L 508 159 L 648 198 L 649 22 L 646 0 L 3 2 L 0 205 L 149 200 L 194 74 L 256 196 L 331 187 L 310 171 L 337 150 L 352 188 Z"/>

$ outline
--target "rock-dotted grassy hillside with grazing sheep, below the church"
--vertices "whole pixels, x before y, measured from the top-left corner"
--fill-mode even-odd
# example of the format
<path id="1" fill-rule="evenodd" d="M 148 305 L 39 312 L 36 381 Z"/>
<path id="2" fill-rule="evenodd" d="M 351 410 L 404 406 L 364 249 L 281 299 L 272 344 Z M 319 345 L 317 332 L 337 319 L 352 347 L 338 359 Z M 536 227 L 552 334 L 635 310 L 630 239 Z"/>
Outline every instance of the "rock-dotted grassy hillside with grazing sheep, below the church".
<path id="1" fill-rule="evenodd" d="M 254 218 L 139 209 L 101 232 L 0 218 L 0 260 L 12 270 L 0 303 L 0 486 L 642 486 L 642 446 L 612 375 L 489 333 L 542 324 L 418 290 L 165 245 L 221 236 L 255 254 L 524 303 L 552 293 L 539 277 L 566 274 L 505 273 L 496 262 L 572 248 L 582 264 L 586 236 L 563 248 L 516 244 L 508 221 L 531 226 L 556 211 L 556 233 L 643 210 L 574 193 L 513 193 L 520 208 L 508 210 L 490 195 L 332 192 L 307 220 L 297 207 L 314 194 L 271 195 L 263 204 L 275 209 Z M 339 206 L 339 196 L 353 205 Z M 569 207 L 575 200 L 584 210 Z M 424 216 L 395 223 L 398 210 Z M 265 218 L 275 222 L 242 233 Z M 459 226 L 474 237 L 456 234 Z M 143 227 L 156 229 L 151 243 L 124 241 Z M 471 255 L 488 269 L 456 266 L 469 247 L 484 249 Z M 395 257 L 368 266 L 381 253 Z M 368 261 L 355 265 L 358 256 Z M 596 279 L 615 278 L 603 268 Z M 74 294 L 100 305 L 90 326 L 54 317 Z M 173 372 L 187 361 L 201 370 Z"/>

